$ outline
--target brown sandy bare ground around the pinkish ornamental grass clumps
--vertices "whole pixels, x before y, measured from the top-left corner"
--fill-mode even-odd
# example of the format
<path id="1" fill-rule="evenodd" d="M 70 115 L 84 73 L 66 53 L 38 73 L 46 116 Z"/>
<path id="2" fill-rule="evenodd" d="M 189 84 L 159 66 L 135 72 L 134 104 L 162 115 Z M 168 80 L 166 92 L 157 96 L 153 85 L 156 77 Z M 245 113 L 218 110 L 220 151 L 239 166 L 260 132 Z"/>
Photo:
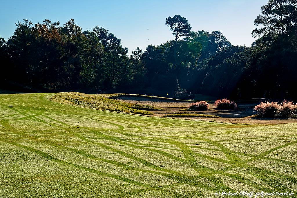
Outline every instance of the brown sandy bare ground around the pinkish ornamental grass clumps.
<path id="1" fill-rule="evenodd" d="M 297 119 L 260 119 L 260 118 L 249 118 L 248 116 L 255 115 L 254 107 L 258 103 L 237 103 L 238 108 L 236 110 L 220 110 L 216 109 L 214 103 L 209 103 L 210 110 L 207 111 L 187 111 L 191 101 L 189 102 L 177 102 L 170 100 L 159 100 L 159 99 L 149 99 L 140 97 L 119 97 L 114 98 L 115 100 L 121 100 L 129 103 L 135 103 L 140 105 L 150 105 L 163 108 L 163 111 L 152 111 L 154 116 L 163 117 L 168 114 L 208 114 L 216 115 L 220 118 L 183 118 L 192 120 L 207 120 L 216 122 L 228 122 L 228 123 L 239 123 L 239 124 L 286 124 L 286 123 L 296 123 Z"/>

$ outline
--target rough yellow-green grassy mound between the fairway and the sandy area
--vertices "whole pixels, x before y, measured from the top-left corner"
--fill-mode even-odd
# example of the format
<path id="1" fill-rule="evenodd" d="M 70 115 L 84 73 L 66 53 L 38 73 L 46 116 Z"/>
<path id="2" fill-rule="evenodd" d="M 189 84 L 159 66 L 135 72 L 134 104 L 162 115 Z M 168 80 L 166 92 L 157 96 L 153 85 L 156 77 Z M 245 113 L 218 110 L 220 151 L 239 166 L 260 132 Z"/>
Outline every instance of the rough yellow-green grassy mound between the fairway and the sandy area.
<path id="1" fill-rule="evenodd" d="M 154 113 L 150 112 L 149 110 L 163 110 L 162 108 L 153 107 L 149 105 L 126 103 L 118 100 L 111 100 L 99 95 L 89 95 L 78 92 L 58 93 L 52 96 L 50 100 L 53 102 L 73 106 L 80 106 L 107 111 L 119 111 L 141 115 L 154 115 Z"/>

